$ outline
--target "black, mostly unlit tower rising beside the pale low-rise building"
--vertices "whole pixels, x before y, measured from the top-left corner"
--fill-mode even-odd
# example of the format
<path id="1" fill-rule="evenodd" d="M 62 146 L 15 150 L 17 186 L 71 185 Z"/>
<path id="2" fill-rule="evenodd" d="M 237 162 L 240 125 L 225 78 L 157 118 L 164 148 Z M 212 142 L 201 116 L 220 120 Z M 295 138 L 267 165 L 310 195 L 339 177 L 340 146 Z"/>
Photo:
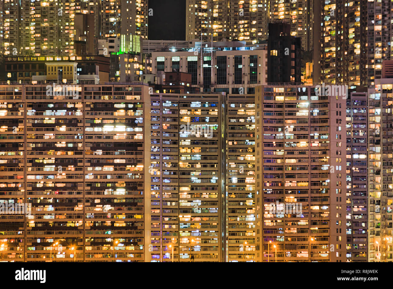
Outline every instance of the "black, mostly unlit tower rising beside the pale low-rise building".
<path id="1" fill-rule="evenodd" d="M 301 82 L 301 39 L 290 29 L 290 24 L 269 23 L 268 83 Z"/>

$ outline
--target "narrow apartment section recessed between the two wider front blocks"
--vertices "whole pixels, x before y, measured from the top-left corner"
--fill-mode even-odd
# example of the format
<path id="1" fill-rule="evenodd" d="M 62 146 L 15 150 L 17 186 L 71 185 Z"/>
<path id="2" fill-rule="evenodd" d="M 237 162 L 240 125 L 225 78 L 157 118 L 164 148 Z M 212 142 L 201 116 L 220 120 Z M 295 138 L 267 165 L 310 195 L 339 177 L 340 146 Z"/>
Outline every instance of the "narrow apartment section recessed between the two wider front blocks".
<path id="1" fill-rule="evenodd" d="M 229 94 L 227 138 L 227 259 L 257 261 L 254 95 Z"/>

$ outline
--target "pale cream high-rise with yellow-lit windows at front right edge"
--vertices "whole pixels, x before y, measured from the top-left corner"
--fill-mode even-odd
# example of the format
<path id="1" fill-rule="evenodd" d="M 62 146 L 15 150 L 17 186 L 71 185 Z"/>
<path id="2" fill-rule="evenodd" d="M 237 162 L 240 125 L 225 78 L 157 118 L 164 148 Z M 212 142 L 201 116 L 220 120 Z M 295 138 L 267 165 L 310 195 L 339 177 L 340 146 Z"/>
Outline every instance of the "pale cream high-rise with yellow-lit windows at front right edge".
<path id="1" fill-rule="evenodd" d="M 392 89 L 392 79 L 369 89 L 369 262 L 393 261 Z"/>

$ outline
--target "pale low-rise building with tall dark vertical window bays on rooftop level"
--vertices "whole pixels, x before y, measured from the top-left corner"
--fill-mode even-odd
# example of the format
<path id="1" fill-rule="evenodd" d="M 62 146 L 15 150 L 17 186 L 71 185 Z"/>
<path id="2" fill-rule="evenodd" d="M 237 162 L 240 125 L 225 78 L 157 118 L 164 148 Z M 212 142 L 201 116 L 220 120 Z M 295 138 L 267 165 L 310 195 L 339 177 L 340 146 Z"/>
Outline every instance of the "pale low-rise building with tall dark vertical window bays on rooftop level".
<path id="1" fill-rule="evenodd" d="M 211 43 L 206 42 L 208 47 L 202 49 L 201 55 L 200 42 L 196 44 L 189 51 L 153 52 L 152 73 L 188 72 L 196 90 L 211 91 L 213 88 L 215 92 L 227 94 L 253 94 L 257 85 L 266 83 L 267 54 L 264 47 L 244 46 L 243 42 L 219 42 L 212 48 Z"/>

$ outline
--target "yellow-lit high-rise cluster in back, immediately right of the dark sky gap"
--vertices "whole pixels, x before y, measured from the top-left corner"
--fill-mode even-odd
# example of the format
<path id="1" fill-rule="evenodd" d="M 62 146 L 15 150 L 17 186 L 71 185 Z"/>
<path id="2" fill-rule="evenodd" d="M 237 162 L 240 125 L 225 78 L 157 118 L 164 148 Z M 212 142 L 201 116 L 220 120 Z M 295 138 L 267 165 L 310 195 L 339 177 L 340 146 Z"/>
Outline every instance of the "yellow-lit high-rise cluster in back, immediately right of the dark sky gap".
<path id="1" fill-rule="evenodd" d="M 268 38 L 269 22 L 286 22 L 300 37 L 304 50 L 313 49 L 314 5 L 309 0 L 187 0 L 186 40 L 257 43 Z"/>

